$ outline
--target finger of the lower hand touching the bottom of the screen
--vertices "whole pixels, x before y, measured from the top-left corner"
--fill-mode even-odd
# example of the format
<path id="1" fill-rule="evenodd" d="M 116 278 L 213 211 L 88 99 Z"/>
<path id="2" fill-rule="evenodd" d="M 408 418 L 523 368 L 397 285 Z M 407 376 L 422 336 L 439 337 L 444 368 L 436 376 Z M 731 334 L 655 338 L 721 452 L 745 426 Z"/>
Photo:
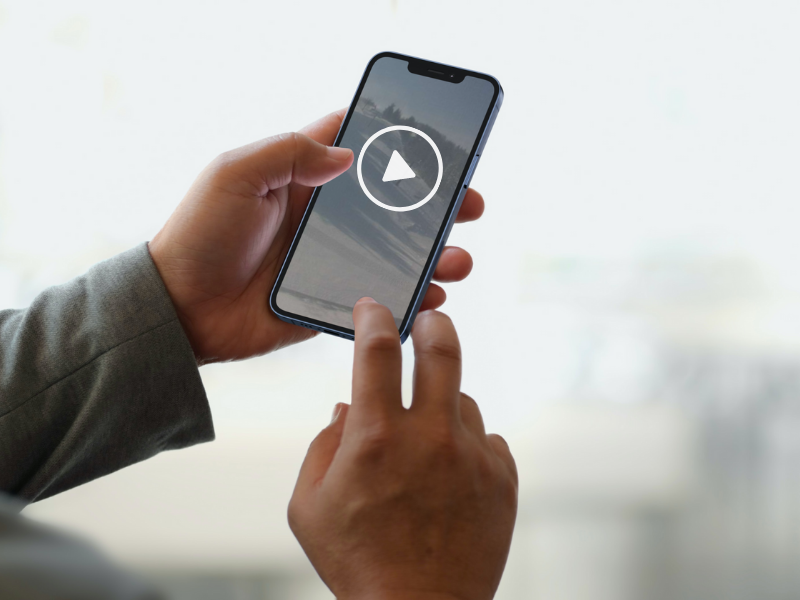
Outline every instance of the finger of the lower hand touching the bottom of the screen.
<path id="1" fill-rule="evenodd" d="M 356 341 L 349 420 L 357 424 L 403 408 L 403 357 L 400 334 L 388 308 L 372 298 L 362 298 L 353 309 L 353 323 Z"/>

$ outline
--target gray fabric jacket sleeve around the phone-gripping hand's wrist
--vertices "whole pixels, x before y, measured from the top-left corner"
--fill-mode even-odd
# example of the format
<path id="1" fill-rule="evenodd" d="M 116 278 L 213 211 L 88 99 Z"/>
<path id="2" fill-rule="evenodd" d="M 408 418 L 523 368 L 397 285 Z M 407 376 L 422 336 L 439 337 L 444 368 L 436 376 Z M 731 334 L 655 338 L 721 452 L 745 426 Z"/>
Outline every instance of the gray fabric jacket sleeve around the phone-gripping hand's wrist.
<path id="1" fill-rule="evenodd" d="M 0 491 L 42 499 L 213 438 L 146 244 L 0 312 Z"/>

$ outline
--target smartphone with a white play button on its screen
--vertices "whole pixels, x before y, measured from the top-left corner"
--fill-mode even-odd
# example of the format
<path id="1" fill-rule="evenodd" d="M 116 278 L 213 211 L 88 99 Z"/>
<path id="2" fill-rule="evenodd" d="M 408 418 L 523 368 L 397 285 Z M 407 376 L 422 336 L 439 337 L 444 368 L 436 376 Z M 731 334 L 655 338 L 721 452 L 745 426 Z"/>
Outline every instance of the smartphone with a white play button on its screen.
<path id="1" fill-rule="evenodd" d="M 489 138 L 503 89 L 489 75 L 382 52 L 334 145 L 353 165 L 316 188 L 270 307 L 354 339 L 353 306 L 387 306 L 405 341 Z"/>

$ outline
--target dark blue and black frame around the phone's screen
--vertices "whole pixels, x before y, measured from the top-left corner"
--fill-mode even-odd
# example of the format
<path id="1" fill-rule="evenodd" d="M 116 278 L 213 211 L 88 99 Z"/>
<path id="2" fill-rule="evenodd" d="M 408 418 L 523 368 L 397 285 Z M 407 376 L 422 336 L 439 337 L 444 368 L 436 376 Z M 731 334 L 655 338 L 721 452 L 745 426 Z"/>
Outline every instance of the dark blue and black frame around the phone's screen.
<path id="1" fill-rule="evenodd" d="M 411 302 L 409 303 L 406 314 L 403 317 L 403 321 L 398 328 L 400 333 L 400 342 L 402 343 L 411 333 L 411 327 L 414 324 L 414 319 L 419 312 L 420 306 L 422 306 L 422 301 L 425 299 L 425 293 L 428 291 L 428 286 L 433 278 L 433 272 L 436 269 L 436 265 L 439 263 L 439 258 L 442 254 L 442 250 L 444 250 L 447 238 L 450 235 L 450 230 L 453 228 L 456 215 L 458 215 L 458 210 L 461 208 L 461 203 L 464 201 L 464 196 L 467 193 L 467 188 L 469 188 L 472 175 L 475 172 L 475 168 L 477 167 L 480 156 L 483 153 L 486 141 L 489 139 L 489 134 L 492 131 L 492 126 L 494 125 L 497 114 L 503 104 L 504 94 L 500 82 L 491 75 L 479 73 L 477 71 L 470 71 L 467 69 L 460 69 L 458 67 L 453 67 L 443 63 L 431 62 L 421 58 L 416 58 L 414 56 L 408 56 L 406 54 L 399 54 L 396 52 L 380 52 L 372 57 L 367 64 L 366 69 L 364 69 L 364 74 L 361 76 L 361 82 L 358 84 L 358 89 L 353 96 L 350 107 L 347 109 L 347 114 L 342 120 L 342 125 L 339 127 L 339 132 L 336 134 L 336 141 L 333 143 L 334 146 L 338 146 L 341 143 L 344 132 L 347 130 L 347 126 L 350 123 L 350 118 L 355 111 L 356 104 L 358 103 L 358 99 L 361 97 L 361 92 L 364 90 L 364 85 L 369 78 L 369 74 L 372 71 L 373 65 L 381 58 L 387 57 L 408 61 L 408 70 L 415 75 L 441 79 L 454 84 L 460 83 L 466 76 L 477 77 L 490 82 L 494 87 L 494 96 L 492 97 L 492 102 L 489 106 L 489 109 L 486 111 L 486 116 L 483 119 L 483 123 L 481 123 L 481 128 L 475 138 L 475 143 L 472 145 L 469 158 L 467 159 L 467 164 L 464 167 L 464 171 L 461 173 L 458 187 L 456 188 L 456 193 L 453 194 L 453 198 L 450 200 L 450 206 L 445 213 L 444 219 L 442 219 L 442 224 L 439 227 L 439 232 L 437 233 L 436 239 L 433 243 L 433 248 L 428 256 L 427 262 L 425 263 L 425 267 L 423 268 L 422 276 L 417 282 L 417 287 L 414 290 L 413 296 L 411 297 Z M 357 158 L 358 157 L 355 157 L 356 160 Z M 290 313 L 280 308 L 277 304 L 277 294 L 280 290 L 281 284 L 283 283 L 286 270 L 289 266 L 289 263 L 291 263 L 294 252 L 297 249 L 297 245 L 300 241 L 300 237 L 303 235 L 306 223 L 308 223 L 311 211 L 314 209 L 314 205 L 316 204 L 322 187 L 323 186 L 318 186 L 314 188 L 314 191 L 311 194 L 311 200 L 309 201 L 306 211 L 303 214 L 303 219 L 300 221 L 300 226 L 297 228 L 297 233 L 295 233 L 294 238 L 292 239 L 289 252 L 286 254 L 286 258 L 283 261 L 278 278 L 275 280 L 275 285 L 272 287 L 272 292 L 270 292 L 269 307 L 279 319 L 286 321 L 287 323 L 307 327 L 308 329 L 313 329 L 314 331 L 329 333 L 331 335 L 342 337 L 348 340 L 354 340 L 355 332 L 352 329 L 339 327 L 338 325 L 333 325 L 331 323 L 317 321 L 316 319 L 305 317 L 303 315 Z"/>

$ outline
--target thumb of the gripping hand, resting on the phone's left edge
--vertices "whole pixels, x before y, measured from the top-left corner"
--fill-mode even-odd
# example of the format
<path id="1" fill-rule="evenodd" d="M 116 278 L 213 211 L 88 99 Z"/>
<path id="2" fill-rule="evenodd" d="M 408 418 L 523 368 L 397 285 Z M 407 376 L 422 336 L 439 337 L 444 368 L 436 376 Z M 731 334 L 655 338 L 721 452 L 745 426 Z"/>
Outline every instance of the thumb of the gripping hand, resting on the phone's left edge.
<path id="1" fill-rule="evenodd" d="M 221 175 L 242 193 L 265 196 L 289 183 L 322 185 L 353 164 L 349 148 L 325 146 L 301 133 L 284 133 L 226 152 Z"/>

